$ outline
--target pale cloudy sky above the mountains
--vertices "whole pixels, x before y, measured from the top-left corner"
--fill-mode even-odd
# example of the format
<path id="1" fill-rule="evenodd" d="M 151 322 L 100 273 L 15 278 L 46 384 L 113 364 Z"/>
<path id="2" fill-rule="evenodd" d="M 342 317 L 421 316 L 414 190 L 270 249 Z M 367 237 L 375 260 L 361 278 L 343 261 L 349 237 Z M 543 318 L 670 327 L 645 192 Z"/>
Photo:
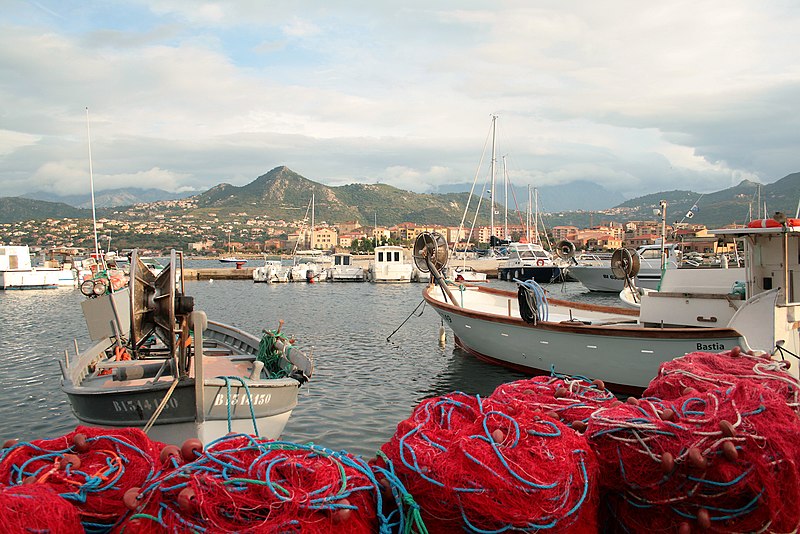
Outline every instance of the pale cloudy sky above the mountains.
<path id="1" fill-rule="evenodd" d="M 492 116 L 517 186 L 771 183 L 800 170 L 798 27 L 796 0 L 0 0 L 0 196 L 280 165 L 469 188 Z"/>

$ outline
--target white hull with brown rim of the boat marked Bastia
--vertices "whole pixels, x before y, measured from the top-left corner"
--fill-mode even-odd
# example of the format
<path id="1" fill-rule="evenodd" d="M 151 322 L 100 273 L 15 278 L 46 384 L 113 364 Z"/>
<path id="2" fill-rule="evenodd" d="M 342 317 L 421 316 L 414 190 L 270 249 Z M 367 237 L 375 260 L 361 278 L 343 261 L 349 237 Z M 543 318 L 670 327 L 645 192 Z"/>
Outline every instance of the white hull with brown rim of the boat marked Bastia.
<path id="1" fill-rule="evenodd" d="M 698 350 L 746 346 L 730 328 L 645 328 L 636 324 L 633 310 L 555 300 L 550 301 L 555 320 L 532 325 L 519 318 L 515 293 L 493 288 L 456 292 L 464 307 L 444 302 L 435 287 L 423 297 L 457 344 L 478 358 L 530 374 L 599 378 L 618 392 L 643 390 L 664 361 Z"/>

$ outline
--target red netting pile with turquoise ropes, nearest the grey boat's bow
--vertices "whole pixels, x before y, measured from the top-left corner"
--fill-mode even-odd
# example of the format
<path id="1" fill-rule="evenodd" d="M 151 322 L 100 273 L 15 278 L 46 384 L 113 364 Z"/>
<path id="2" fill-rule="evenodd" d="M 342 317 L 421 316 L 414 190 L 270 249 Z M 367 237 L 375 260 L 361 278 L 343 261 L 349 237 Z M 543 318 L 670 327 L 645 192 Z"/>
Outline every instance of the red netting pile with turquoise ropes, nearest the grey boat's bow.
<path id="1" fill-rule="evenodd" d="M 131 490 L 121 530 L 371 534 L 414 521 L 391 469 L 346 452 L 236 434 L 194 456 Z"/>

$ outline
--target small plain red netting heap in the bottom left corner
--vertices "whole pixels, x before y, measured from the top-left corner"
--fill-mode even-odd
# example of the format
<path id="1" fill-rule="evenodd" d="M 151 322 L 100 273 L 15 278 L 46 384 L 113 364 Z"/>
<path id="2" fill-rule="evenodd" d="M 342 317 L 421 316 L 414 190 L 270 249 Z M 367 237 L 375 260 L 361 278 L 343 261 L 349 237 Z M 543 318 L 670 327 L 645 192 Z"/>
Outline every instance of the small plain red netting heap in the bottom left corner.
<path id="1" fill-rule="evenodd" d="M 0 525 L 6 534 L 83 531 L 77 508 L 42 484 L 0 487 Z"/>

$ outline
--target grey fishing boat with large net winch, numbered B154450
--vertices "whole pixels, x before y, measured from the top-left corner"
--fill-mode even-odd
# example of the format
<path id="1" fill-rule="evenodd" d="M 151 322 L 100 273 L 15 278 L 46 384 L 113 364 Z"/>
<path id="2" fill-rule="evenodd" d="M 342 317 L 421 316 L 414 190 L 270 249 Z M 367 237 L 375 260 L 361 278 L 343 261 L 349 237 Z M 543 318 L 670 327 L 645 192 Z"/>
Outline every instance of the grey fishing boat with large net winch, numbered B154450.
<path id="1" fill-rule="evenodd" d="M 259 338 L 208 320 L 184 292 L 182 267 L 172 251 L 155 276 L 134 251 L 129 285 L 101 284 L 83 302 L 94 344 L 60 361 L 72 411 L 84 424 L 139 427 L 174 444 L 229 432 L 279 437 L 313 360 L 280 326 Z"/>

